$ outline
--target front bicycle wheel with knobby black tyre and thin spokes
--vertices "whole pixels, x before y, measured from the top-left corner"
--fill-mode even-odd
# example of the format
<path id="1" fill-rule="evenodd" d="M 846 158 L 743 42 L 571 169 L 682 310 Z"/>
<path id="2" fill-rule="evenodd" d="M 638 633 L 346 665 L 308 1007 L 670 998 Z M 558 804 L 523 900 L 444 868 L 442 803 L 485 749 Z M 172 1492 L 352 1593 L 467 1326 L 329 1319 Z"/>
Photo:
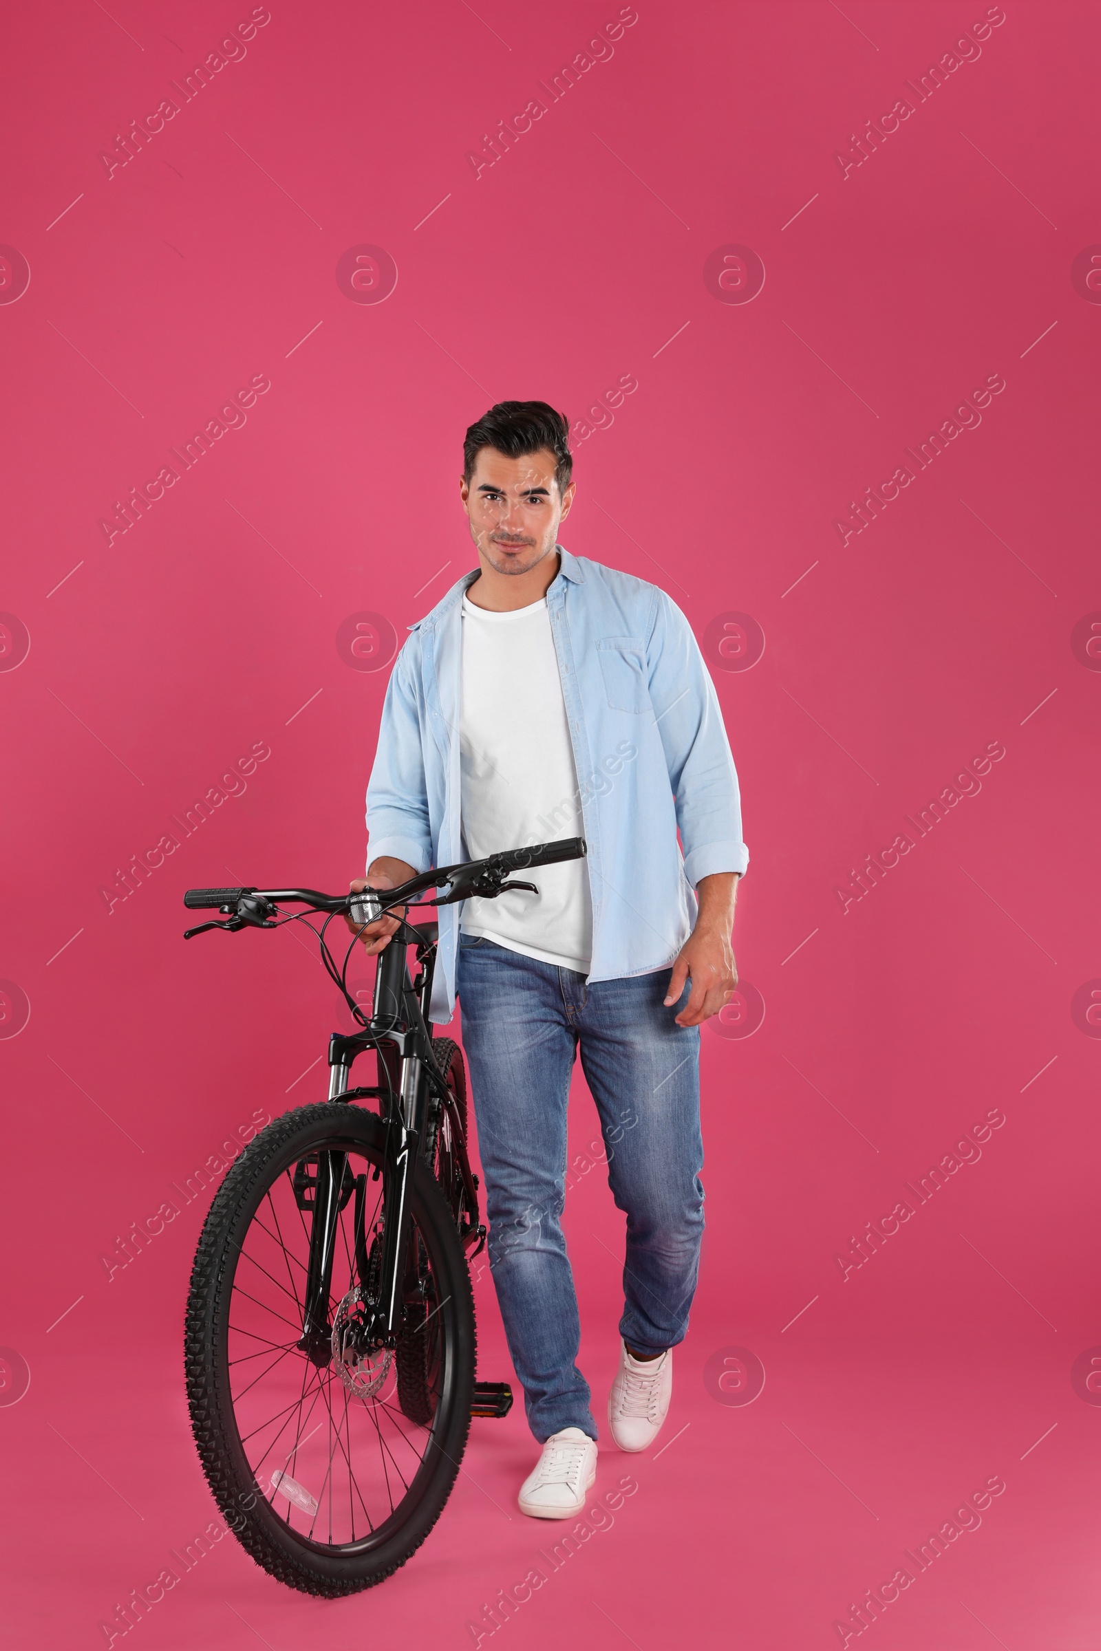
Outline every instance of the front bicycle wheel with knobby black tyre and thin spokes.
<path id="1" fill-rule="evenodd" d="M 327 1317 L 340 1349 L 340 1327 L 375 1289 L 385 1138 L 348 1103 L 277 1118 L 220 1187 L 191 1271 L 185 1362 L 203 1471 L 253 1559 L 305 1593 L 355 1593 L 409 1559 L 439 1519 L 470 1426 L 470 1276 L 428 1169 L 413 1184 L 416 1265 L 398 1349 L 340 1357 L 302 1334 L 320 1154 L 347 1154 Z M 406 1342 L 426 1380 L 416 1418 L 398 1392 Z"/>

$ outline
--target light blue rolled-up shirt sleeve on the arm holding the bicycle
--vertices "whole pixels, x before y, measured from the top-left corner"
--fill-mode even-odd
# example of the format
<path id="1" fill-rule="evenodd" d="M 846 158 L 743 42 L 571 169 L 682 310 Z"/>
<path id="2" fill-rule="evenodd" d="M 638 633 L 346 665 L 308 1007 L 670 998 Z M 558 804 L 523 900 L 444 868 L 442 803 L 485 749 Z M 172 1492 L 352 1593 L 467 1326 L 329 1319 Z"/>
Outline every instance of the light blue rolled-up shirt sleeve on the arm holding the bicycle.
<path id="1" fill-rule="evenodd" d="M 421 707 L 413 687 L 409 652 L 416 634 L 398 654 L 386 687 L 371 778 L 366 784 L 366 863 L 388 855 L 414 872 L 432 863 Z"/>

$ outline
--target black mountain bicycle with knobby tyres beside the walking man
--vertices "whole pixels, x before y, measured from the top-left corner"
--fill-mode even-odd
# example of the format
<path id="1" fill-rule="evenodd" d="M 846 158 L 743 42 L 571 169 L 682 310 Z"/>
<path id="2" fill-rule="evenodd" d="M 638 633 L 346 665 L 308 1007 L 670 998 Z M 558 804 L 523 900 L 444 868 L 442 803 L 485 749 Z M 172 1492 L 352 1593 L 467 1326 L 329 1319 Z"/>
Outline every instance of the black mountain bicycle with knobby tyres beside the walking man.
<path id="1" fill-rule="evenodd" d="M 428 1020 L 439 925 L 409 923 L 406 910 L 378 954 L 370 1015 L 348 991 L 348 959 L 363 926 L 399 906 L 538 893 L 508 878 L 584 852 L 581 837 L 517 849 L 424 872 L 385 896 L 183 896 L 224 918 L 185 939 L 305 923 L 358 1022 L 328 1040 L 328 1100 L 276 1118 L 229 1169 L 187 1304 L 188 1407 L 206 1481 L 246 1552 L 305 1593 L 357 1593 L 404 1565 L 444 1509 L 470 1418 L 512 1405 L 507 1384 L 475 1382 L 467 1256 L 484 1248 L 485 1225 L 467 1157 L 462 1052 L 434 1038 Z M 429 890 L 446 893 L 418 900 Z M 320 930 L 312 913 L 325 913 Z M 337 967 L 325 930 L 345 915 L 358 930 Z M 366 1050 L 376 1081 L 352 1088 Z M 355 1105 L 371 1100 L 378 1111 Z"/>

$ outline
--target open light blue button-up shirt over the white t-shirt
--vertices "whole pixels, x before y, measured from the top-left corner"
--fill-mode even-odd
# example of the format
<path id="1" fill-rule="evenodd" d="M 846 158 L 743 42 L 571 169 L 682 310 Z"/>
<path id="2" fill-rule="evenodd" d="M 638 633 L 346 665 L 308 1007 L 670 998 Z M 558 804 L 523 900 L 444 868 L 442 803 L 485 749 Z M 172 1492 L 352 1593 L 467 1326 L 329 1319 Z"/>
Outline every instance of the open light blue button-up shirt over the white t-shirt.
<path id="1" fill-rule="evenodd" d="M 744 872 L 749 852 L 723 713 L 688 621 L 655 584 L 558 551 L 546 608 L 589 850 L 589 981 L 612 981 L 672 964 L 695 923 L 695 885 Z M 464 575 L 409 626 L 395 660 L 366 788 L 368 865 L 393 855 L 426 872 L 465 859 L 462 594 L 475 578 Z M 543 840 L 561 835 L 548 819 Z M 439 911 L 437 1022 L 454 1014 L 461 913 Z"/>

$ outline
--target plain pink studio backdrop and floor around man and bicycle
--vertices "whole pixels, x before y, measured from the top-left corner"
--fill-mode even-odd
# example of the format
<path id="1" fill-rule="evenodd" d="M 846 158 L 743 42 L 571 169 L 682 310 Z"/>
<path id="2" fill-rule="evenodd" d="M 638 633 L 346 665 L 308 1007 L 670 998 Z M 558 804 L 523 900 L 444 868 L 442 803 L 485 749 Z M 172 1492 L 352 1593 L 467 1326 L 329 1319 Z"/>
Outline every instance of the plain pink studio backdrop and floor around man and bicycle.
<path id="1" fill-rule="evenodd" d="M 347 1024 L 289 934 L 185 946 L 182 892 L 361 870 L 386 670 L 360 667 L 388 632 L 357 659 L 340 626 L 404 636 L 470 566 L 461 439 L 490 401 L 579 419 L 632 376 L 576 442 L 563 538 L 662 583 L 702 641 L 730 613 L 763 631 L 751 669 L 726 669 L 751 657 L 736 631 L 710 657 L 753 855 L 736 951 L 766 1014 L 703 1037 L 708 1233 L 662 1455 L 604 1441 L 594 1494 L 624 1473 L 637 1493 L 482 1644 L 839 1644 L 850 1601 L 1000 1476 L 868 1633 L 1096 1646 L 1096 7 L 1009 0 L 919 101 L 905 83 L 984 5 L 639 0 L 550 102 L 538 81 L 614 3 L 272 0 L 109 177 L 116 134 L 248 15 L 114 0 L 5 30 L 0 241 L 30 267 L 21 296 L 18 258 L 0 267 L 13 1643 L 106 1643 L 213 1517 L 180 1357 L 203 1210 L 111 1283 L 101 1253 L 256 1106 L 320 1098 L 310 1063 Z M 467 152 L 540 96 L 475 178 Z M 842 175 L 900 97 L 913 114 Z M 361 246 L 396 264 L 385 302 L 337 281 Z M 723 266 L 730 246 L 764 266 L 751 302 L 728 300 L 756 267 Z M 385 263 L 360 267 L 380 294 Z M 248 423 L 109 545 L 114 502 L 254 375 Z M 905 449 L 987 375 L 1005 388 L 982 423 L 918 471 Z M 903 464 L 842 545 L 835 518 Z M 842 911 L 835 887 L 995 741 L 981 792 Z M 246 789 L 109 911 L 117 872 L 254 745 Z M 754 1027 L 743 1002 L 725 1032 Z M 835 1253 L 995 1108 L 982 1159 L 842 1280 Z M 579 1078 L 573 1129 L 584 1152 Z M 568 1223 L 601 1413 L 621 1218 L 599 1169 L 574 1171 Z M 485 1270 L 477 1298 L 480 1374 L 508 1377 Z M 744 1359 L 718 1385 L 735 1347 L 766 1372 L 748 1405 Z M 520 1405 L 475 1422 L 383 1588 L 307 1600 L 224 1540 L 134 1638 L 472 1644 L 550 1535 L 513 1504 L 532 1456 Z"/>

